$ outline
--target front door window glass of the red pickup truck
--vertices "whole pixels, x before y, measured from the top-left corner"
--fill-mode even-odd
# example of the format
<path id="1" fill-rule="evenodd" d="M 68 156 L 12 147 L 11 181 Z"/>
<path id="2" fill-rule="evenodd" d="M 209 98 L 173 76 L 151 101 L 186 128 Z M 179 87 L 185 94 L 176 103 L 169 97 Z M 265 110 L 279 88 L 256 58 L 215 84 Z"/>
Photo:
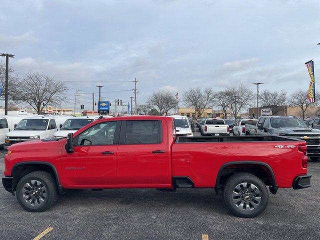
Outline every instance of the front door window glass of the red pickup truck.
<path id="1" fill-rule="evenodd" d="M 113 144 L 116 121 L 101 122 L 80 133 L 76 145 L 110 145 Z"/>

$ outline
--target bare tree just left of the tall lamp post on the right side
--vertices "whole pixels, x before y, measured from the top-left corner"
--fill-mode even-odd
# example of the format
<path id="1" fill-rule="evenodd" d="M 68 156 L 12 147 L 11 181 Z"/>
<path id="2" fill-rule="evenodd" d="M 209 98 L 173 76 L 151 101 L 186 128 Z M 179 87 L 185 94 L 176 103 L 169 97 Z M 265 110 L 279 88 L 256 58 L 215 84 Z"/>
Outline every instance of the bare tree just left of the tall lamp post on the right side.
<path id="1" fill-rule="evenodd" d="M 245 85 L 238 85 L 234 88 L 228 88 L 226 90 L 226 95 L 230 102 L 231 111 L 234 115 L 234 119 L 243 107 L 246 107 L 254 99 L 254 94 L 252 89 Z"/>

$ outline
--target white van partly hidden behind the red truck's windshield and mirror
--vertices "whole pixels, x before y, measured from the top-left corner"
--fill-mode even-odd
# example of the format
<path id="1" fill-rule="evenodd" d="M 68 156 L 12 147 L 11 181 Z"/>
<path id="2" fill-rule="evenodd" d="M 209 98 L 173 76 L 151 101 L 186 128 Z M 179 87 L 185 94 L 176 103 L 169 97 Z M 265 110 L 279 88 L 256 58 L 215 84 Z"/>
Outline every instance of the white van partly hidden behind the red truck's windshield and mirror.
<path id="1" fill-rule="evenodd" d="M 60 130 L 53 133 L 54 138 L 60 138 L 67 136 L 68 133 L 76 132 L 81 127 L 96 121 L 97 119 L 103 118 L 100 115 L 91 115 L 91 116 L 77 116 L 67 119 L 63 125 L 60 126 Z"/>

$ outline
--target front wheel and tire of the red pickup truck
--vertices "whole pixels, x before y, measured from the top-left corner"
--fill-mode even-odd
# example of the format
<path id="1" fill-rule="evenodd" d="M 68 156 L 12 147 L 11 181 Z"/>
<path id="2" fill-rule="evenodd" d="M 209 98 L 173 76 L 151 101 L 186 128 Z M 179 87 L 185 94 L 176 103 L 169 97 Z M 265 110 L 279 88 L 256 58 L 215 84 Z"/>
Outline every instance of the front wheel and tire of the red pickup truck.
<path id="1" fill-rule="evenodd" d="M 27 211 L 44 211 L 57 198 L 58 192 L 55 179 L 47 171 L 33 171 L 24 175 L 16 187 L 16 199 Z"/>

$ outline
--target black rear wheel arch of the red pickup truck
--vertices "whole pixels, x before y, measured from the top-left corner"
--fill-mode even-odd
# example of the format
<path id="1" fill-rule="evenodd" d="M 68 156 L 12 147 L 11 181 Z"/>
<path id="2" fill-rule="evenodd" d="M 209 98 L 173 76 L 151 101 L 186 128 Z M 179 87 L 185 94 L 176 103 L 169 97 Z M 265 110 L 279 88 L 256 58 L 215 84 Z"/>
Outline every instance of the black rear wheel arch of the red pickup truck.
<path id="1" fill-rule="evenodd" d="M 243 172 L 250 173 L 250 171 L 248 171 L 248 169 L 257 168 L 257 167 L 264 170 L 264 172 L 267 174 L 267 176 L 269 177 L 269 181 L 270 181 L 270 186 L 269 186 L 270 191 L 272 194 L 275 194 L 278 187 L 276 185 L 275 175 L 274 175 L 274 172 L 273 172 L 271 166 L 265 162 L 262 162 L 262 161 L 246 161 L 246 160 L 226 162 L 219 168 L 219 171 L 216 176 L 215 186 L 214 186 L 215 192 L 216 193 L 218 192 L 219 184 L 221 183 L 221 177 L 223 176 L 222 173 L 223 173 L 224 169 L 227 169 L 227 168 L 235 169 L 229 173 L 229 175 L 232 175 L 232 172 L 236 172 L 236 169 L 242 169 Z M 243 170 L 243 169 L 245 169 L 245 170 Z M 266 171 L 265 171 L 265 169 L 266 169 Z M 259 175 L 257 175 L 257 177 L 259 177 Z"/>

